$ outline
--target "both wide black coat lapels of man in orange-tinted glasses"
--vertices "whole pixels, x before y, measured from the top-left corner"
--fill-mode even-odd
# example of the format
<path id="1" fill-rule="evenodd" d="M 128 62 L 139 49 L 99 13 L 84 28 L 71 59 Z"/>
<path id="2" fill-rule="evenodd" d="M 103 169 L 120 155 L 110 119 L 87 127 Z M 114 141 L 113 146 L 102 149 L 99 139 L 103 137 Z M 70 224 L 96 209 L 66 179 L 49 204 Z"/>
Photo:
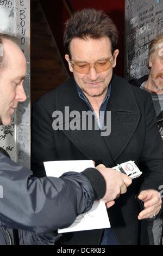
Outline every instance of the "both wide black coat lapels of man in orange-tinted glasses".
<path id="1" fill-rule="evenodd" d="M 137 124 L 140 111 L 133 91 L 127 82 L 117 76 L 111 81 L 111 95 L 107 110 L 111 111 L 111 134 L 101 136 L 99 130 L 71 130 L 64 129 L 65 135 L 86 156 L 87 159 L 103 163 L 105 166 L 115 166 L 115 161 L 123 152 L 131 139 Z M 82 123 L 82 111 L 89 111 L 86 103 L 79 98 L 74 79 L 68 80 L 66 85 L 57 88 L 57 110 L 65 113 L 65 106 L 69 112 L 77 110 L 80 113 L 78 122 Z M 70 127 L 73 118 L 65 118 L 64 124 Z M 93 118 L 94 120 L 94 118 Z M 106 121 L 106 115 L 105 115 Z"/>

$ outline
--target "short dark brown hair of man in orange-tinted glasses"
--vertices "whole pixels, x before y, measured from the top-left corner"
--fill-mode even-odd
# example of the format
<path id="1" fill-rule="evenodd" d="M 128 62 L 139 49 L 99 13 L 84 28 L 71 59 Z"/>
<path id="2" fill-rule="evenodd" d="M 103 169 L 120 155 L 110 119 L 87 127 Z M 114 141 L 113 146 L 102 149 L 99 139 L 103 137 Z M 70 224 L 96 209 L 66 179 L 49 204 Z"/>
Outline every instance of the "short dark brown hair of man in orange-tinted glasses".
<path id="1" fill-rule="evenodd" d="M 99 39 L 109 37 L 112 53 L 118 43 L 118 31 L 114 22 L 102 10 L 83 9 L 74 13 L 66 23 L 64 32 L 64 46 L 70 55 L 70 43 L 73 38 Z"/>

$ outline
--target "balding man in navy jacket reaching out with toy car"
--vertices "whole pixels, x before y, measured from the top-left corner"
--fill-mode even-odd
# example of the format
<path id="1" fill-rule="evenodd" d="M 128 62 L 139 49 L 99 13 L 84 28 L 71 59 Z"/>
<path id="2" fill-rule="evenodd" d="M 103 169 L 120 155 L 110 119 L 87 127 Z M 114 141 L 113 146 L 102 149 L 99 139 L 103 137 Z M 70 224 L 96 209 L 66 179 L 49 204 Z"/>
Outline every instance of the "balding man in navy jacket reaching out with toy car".
<path id="1" fill-rule="evenodd" d="M 26 57 L 20 46 L 15 38 L 0 33 L 0 124 L 4 126 L 10 124 L 17 104 L 27 98 L 25 78 Z M 59 178 L 36 178 L 0 148 L 0 245 L 54 245 L 61 236 L 58 228 L 72 224 L 94 200 L 112 206 L 130 184 L 130 177 L 103 165 L 81 173 L 74 169 Z"/>

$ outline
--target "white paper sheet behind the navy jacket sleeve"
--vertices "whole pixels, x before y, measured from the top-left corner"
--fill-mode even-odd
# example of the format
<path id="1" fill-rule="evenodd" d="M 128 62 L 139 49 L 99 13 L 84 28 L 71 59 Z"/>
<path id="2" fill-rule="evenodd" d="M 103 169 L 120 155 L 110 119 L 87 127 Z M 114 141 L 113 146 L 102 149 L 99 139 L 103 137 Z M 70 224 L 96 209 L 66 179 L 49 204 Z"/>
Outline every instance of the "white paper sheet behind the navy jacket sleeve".
<path id="1" fill-rule="evenodd" d="M 50 161 L 44 162 L 44 166 L 49 177 L 60 177 L 67 171 L 81 172 L 94 167 L 92 160 Z M 90 211 L 79 215 L 70 227 L 58 229 L 58 233 L 103 228 L 110 228 L 106 206 L 102 201 L 95 201 Z"/>

